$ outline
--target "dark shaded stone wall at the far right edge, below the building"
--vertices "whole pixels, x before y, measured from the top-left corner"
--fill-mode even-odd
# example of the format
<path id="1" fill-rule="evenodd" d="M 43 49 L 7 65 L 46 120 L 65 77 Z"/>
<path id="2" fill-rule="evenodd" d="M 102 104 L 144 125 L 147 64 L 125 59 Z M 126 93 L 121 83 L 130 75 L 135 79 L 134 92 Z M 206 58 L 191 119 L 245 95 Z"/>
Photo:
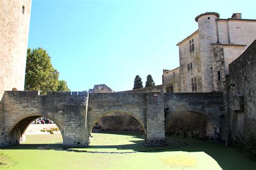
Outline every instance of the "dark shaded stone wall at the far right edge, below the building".
<path id="1" fill-rule="evenodd" d="M 229 65 L 227 136 L 256 137 L 256 40 Z M 239 134 L 240 133 L 240 134 Z"/>

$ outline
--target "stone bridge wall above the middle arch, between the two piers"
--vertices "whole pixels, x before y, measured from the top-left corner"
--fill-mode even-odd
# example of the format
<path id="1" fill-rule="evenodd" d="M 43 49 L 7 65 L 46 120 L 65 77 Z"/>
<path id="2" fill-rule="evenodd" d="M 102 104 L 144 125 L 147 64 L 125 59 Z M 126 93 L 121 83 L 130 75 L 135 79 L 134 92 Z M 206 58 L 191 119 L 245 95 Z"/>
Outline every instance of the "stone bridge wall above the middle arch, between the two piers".
<path id="1" fill-rule="evenodd" d="M 89 95 L 87 112 L 87 129 L 91 132 L 93 126 L 107 114 L 122 112 L 133 116 L 145 130 L 146 94 L 143 93 L 109 93 Z M 146 133 L 146 132 L 145 132 Z"/>

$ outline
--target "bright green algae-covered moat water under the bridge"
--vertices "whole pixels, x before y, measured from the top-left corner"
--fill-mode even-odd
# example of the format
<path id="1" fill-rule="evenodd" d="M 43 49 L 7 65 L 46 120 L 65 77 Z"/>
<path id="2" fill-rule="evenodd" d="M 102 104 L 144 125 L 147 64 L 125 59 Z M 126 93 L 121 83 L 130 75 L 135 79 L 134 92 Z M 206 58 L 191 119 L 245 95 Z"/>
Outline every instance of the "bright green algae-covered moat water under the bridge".
<path id="1" fill-rule="evenodd" d="M 168 146 L 145 147 L 143 134 L 92 133 L 86 148 L 62 148 L 60 134 L 27 135 L 0 150 L 0 169 L 256 169 L 235 148 L 166 137 Z"/>

